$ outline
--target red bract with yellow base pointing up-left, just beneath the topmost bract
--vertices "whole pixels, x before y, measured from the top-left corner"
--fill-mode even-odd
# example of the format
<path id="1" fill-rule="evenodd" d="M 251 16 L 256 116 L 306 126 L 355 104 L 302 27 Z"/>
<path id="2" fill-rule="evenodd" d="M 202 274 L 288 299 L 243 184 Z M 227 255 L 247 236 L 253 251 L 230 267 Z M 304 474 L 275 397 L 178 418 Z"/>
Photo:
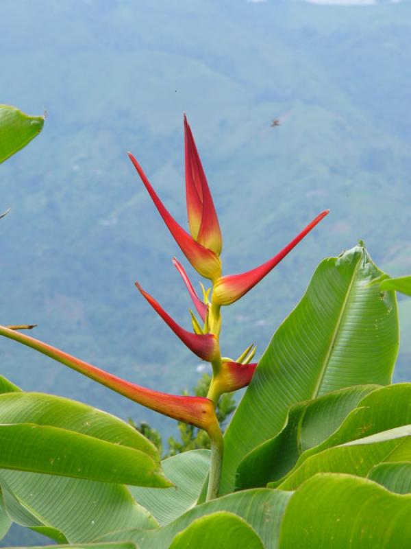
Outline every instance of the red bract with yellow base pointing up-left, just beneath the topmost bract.
<path id="1" fill-rule="evenodd" d="M 196 242 L 186 231 L 184 231 L 182 226 L 174 220 L 169 211 L 164 207 L 153 187 L 151 187 L 147 176 L 142 171 L 140 164 L 136 161 L 131 152 L 129 152 L 129 159 L 136 168 L 142 183 L 144 183 L 155 207 L 158 209 L 158 212 L 162 216 L 171 235 L 173 235 L 175 242 L 177 242 L 182 249 L 182 252 L 188 261 L 190 261 L 190 264 L 192 264 L 202 277 L 213 281 L 217 279 L 221 274 L 221 261 L 219 256 L 212 250 L 202 246 L 199 242 Z"/>

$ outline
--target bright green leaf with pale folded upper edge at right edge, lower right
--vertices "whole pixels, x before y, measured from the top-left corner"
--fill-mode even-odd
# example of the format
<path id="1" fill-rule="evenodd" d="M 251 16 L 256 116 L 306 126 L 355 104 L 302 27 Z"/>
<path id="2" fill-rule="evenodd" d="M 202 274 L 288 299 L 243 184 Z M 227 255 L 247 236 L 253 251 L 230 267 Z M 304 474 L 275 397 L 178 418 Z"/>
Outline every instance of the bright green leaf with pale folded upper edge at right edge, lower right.
<path id="1" fill-rule="evenodd" d="M 278 487 L 294 490 L 317 473 L 367 476 L 379 463 L 411 462 L 410 435 L 411 425 L 406 425 L 323 450 L 295 467 Z"/>

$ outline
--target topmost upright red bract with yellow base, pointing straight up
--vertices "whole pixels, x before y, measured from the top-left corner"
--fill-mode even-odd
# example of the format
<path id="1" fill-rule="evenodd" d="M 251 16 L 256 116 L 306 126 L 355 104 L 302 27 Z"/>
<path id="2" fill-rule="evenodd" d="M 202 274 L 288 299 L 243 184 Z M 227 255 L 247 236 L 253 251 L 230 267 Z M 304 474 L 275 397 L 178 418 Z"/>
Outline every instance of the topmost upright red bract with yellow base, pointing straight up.
<path id="1" fill-rule="evenodd" d="M 221 240 L 219 219 L 186 115 L 184 115 L 184 152 L 190 233 L 196 242 L 220 255 L 223 241 Z"/>

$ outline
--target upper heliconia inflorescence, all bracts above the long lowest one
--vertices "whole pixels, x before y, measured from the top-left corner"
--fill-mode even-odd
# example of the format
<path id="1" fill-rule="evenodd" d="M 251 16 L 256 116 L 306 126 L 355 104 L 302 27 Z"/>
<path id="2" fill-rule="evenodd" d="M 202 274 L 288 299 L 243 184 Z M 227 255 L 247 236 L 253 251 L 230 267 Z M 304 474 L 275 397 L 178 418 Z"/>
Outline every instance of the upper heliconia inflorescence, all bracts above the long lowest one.
<path id="1" fill-rule="evenodd" d="M 206 174 L 199 157 L 197 146 L 192 137 L 191 128 L 186 116 L 184 116 L 184 151 L 186 170 L 186 204 L 188 215 L 188 227 L 190 233 L 185 231 L 169 211 L 164 207 L 160 198 L 155 193 L 149 179 L 143 172 L 142 167 L 134 156 L 129 153 L 134 167 L 136 168 L 142 183 L 149 192 L 155 207 L 162 216 L 175 242 L 193 268 L 201 276 L 212 282 L 212 288 L 206 292 L 204 287 L 203 299 L 200 299 L 188 278 L 182 264 L 174 258 L 173 264 L 181 274 L 184 284 L 190 294 L 192 303 L 197 310 L 200 320 L 191 312 L 192 327 L 194 332 L 190 333 L 175 321 L 162 309 L 155 299 L 142 290 L 136 283 L 137 288 L 149 301 L 153 309 L 162 317 L 174 333 L 186 344 L 186 346 L 203 360 L 212 364 L 213 376 L 208 397 L 218 401 L 222 393 L 237 390 L 247 386 L 251 382 L 257 364 L 249 364 L 250 353 L 255 353 L 255 347 L 249 348 L 249 352 L 240 356 L 240 360 L 223 359 L 219 346 L 219 335 L 221 331 L 221 306 L 231 305 L 240 297 L 245 295 L 253 286 L 262 280 L 297 244 L 305 237 L 314 226 L 318 224 L 328 210 L 321 212 L 310 222 L 301 233 L 299 233 L 287 246 L 277 255 L 266 261 L 257 268 L 242 274 L 221 275 L 221 250 L 223 240 L 219 219 L 216 214 L 214 202 L 208 187 Z"/>

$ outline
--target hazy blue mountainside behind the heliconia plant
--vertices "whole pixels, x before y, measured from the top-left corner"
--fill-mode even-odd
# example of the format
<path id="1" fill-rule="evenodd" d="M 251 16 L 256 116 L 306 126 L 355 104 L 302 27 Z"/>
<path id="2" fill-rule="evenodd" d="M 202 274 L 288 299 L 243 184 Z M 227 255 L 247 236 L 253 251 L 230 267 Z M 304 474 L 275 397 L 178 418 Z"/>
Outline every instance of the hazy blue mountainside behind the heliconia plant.
<path id="1" fill-rule="evenodd" d="M 262 352 L 319 260 L 359 238 L 390 274 L 410 272 L 409 2 L 3 0 L 0 9 L 1 102 L 48 113 L 42 135 L 1 166 L 1 208 L 12 207 L 1 222 L 2 323 L 38 323 L 34 336 L 143 385 L 195 385 L 203 366 L 134 288 L 138 279 L 189 325 L 171 265 L 181 253 L 125 154 L 185 222 L 184 111 L 221 219 L 225 273 L 260 264 L 332 210 L 225 312 L 225 355 L 251 341 Z M 410 375 L 409 300 L 400 311 L 397 380 Z M 25 390 L 175 428 L 12 342 L 1 357 L 1 373 Z"/>

